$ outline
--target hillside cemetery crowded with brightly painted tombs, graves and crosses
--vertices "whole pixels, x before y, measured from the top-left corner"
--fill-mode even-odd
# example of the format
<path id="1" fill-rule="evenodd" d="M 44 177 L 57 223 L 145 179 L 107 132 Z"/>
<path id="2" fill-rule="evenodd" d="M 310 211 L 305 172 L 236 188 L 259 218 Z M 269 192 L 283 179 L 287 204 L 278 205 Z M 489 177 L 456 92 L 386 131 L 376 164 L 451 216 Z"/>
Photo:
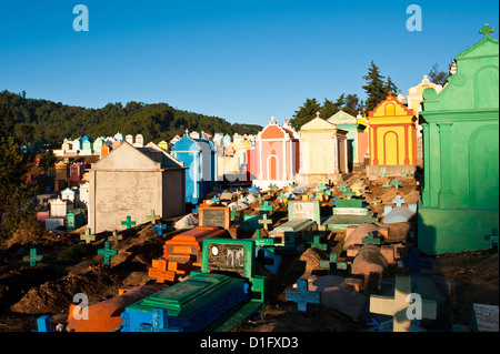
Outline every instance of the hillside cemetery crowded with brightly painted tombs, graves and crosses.
<path id="1" fill-rule="evenodd" d="M 0 332 L 498 332 L 490 32 L 364 118 L 66 139 L 0 249 Z"/>

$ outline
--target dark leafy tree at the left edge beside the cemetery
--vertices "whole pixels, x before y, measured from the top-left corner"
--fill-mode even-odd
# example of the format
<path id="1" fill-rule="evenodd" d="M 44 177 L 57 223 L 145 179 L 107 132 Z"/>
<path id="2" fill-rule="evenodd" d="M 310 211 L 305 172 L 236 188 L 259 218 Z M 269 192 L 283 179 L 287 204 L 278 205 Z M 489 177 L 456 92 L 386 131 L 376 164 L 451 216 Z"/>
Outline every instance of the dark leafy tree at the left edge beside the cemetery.
<path id="1" fill-rule="evenodd" d="M 38 188 L 26 183 L 28 164 L 13 138 L 0 138 L 0 239 L 8 239 L 18 227 L 34 220 Z"/>

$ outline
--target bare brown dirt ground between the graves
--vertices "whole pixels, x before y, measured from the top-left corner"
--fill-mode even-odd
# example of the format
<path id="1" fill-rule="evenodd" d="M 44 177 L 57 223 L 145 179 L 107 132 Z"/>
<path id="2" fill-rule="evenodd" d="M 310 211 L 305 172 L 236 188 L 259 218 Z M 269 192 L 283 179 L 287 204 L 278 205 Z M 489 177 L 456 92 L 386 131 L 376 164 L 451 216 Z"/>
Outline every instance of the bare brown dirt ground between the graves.
<path id="1" fill-rule="evenodd" d="M 362 175 L 344 176 L 348 185 L 362 181 Z M 392 199 L 400 194 L 407 203 L 417 203 L 419 186 L 413 178 L 400 178 L 402 188 L 382 188 L 388 179 L 363 181 L 369 193 L 363 194 L 367 202 L 377 199 L 381 203 L 370 204 L 374 215 L 381 215 L 383 204 L 391 204 Z M 340 195 L 337 189 L 334 195 Z M 268 196 L 270 204 L 278 208 L 277 193 Z M 331 213 L 332 204 L 322 203 L 322 213 Z M 258 204 L 244 213 L 258 213 Z M 284 209 L 273 212 L 274 224 L 286 220 Z M 177 220 L 168 220 L 172 225 Z M 416 245 L 417 220 L 397 224 L 379 225 L 390 227 L 387 243 L 404 243 Z M 147 271 L 151 260 L 162 255 L 163 242 L 178 231 L 166 233 L 162 237 L 153 235 L 151 225 L 138 225 L 123 232 L 123 240 L 113 249 L 119 251 L 111 259 L 110 267 L 103 265 L 103 257 L 96 254 L 103 246 L 107 233 L 98 235 L 91 245 L 80 247 L 78 252 L 68 255 L 72 245 L 79 244 L 79 234 L 83 229 L 71 234 L 56 235 L 41 226 L 30 226 L 17 233 L 0 249 L 0 332 L 30 332 L 37 328 L 37 317 L 49 314 L 53 325 L 64 324 L 68 317 L 72 296 L 86 293 L 90 304 L 110 299 L 118 294 L 120 287 L 128 285 L 144 285 L 154 282 L 148 277 Z M 244 233 L 250 237 L 253 233 Z M 364 322 L 358 322 L 339 311 L 321 305 L 311 305 L 309 313 L 297 311 L 297 304 L 284 300 L 284 291 L 291 289 L 298 277 L 303 274 L 323 274 L 319 270 L 319 260 L 328 259 L 329 252 L 342 251 L 344 232 L 330 232 L 323 239 L 328 250 L 307 250 L 303 254 L 282 257 L 276 275 L 258 264 L 257 273 L 268 276 L 268 301 L 262 311 L 252 318 L 241 323 L 234 331 L 239 332 L 362 332 L 369 327 Z M 30 247 L 37 247 L 43 260 L 30 267 L 22 257 Z M 64 256 L 61 254 L 64 253 Z M 343 253 L 342 253 L 343 252 Z M 426 256 L 432 260 L 432 270 L 422 271 L 422 275 L 437 276 L 446 280 L 451 306 L 451 318 L 446 328 L 429 331 L 470 331 L 471 307 L 473 303 L 499 304 L 499 260 L 493 250 L 464 252 L 460 254 L 441 254 Z M 391 279 L 396 274 L 409 274 L 408 270 L 398 266 L 388 267 L 382 279 Z M 369 295 L 373 289 L 363 279 L 360 292 Z"/>

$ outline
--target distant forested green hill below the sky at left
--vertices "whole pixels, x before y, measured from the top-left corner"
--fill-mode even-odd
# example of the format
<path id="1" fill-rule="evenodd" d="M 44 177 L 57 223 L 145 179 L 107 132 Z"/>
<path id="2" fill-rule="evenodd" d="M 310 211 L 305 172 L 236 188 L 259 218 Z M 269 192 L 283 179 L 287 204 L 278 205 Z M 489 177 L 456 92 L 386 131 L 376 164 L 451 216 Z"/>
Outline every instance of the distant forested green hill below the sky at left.
<path id="1" fill-rule="evenodd" d="M 146 104 L 129 102 L 108 103 L 101 109 L 86 109 L 67 105 L 48 100 L 27 99 L 26 93 L 0 92 L 0 136 L 13 134 L 22 141 L 30 125 L 34 128 L 33 136 L 28 141 L 44 140 L 47 143 L 59 143 L 64 138 L 76 139 L 89 135 L 97 136 L 139 134 L 144 141 L 169 141 L 176 134 L 189 131 L 204 131 L 233 134 L 257 134 L 262 127 L 257 124 L 231 124 L 218 118 L 200 113 L 177 110 L 167 103 Z M 28 127 L 28 129 L 26 129 Z M 24 128 L 24 130 L 22 129 Z M 21 136 L 20 136 L 21 135 Z"/>

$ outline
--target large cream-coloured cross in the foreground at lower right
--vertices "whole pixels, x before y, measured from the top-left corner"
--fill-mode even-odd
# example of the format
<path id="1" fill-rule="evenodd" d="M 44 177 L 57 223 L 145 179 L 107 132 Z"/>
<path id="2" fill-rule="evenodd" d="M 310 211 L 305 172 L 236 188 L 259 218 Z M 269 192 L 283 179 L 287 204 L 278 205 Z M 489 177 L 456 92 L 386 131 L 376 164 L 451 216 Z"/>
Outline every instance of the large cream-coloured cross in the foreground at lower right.
<path id="1" fill-rule="evenodd" d="M 410 305 L 411 276 L 396 276 L 394 296 L 370 295 L 370 312 L 393 317 L 393 332 L 410 332 L 411 320 L 407 310 Z M 422 300 L 422 318 L 436 320 L 437 304 L 434 301 Z"/>

